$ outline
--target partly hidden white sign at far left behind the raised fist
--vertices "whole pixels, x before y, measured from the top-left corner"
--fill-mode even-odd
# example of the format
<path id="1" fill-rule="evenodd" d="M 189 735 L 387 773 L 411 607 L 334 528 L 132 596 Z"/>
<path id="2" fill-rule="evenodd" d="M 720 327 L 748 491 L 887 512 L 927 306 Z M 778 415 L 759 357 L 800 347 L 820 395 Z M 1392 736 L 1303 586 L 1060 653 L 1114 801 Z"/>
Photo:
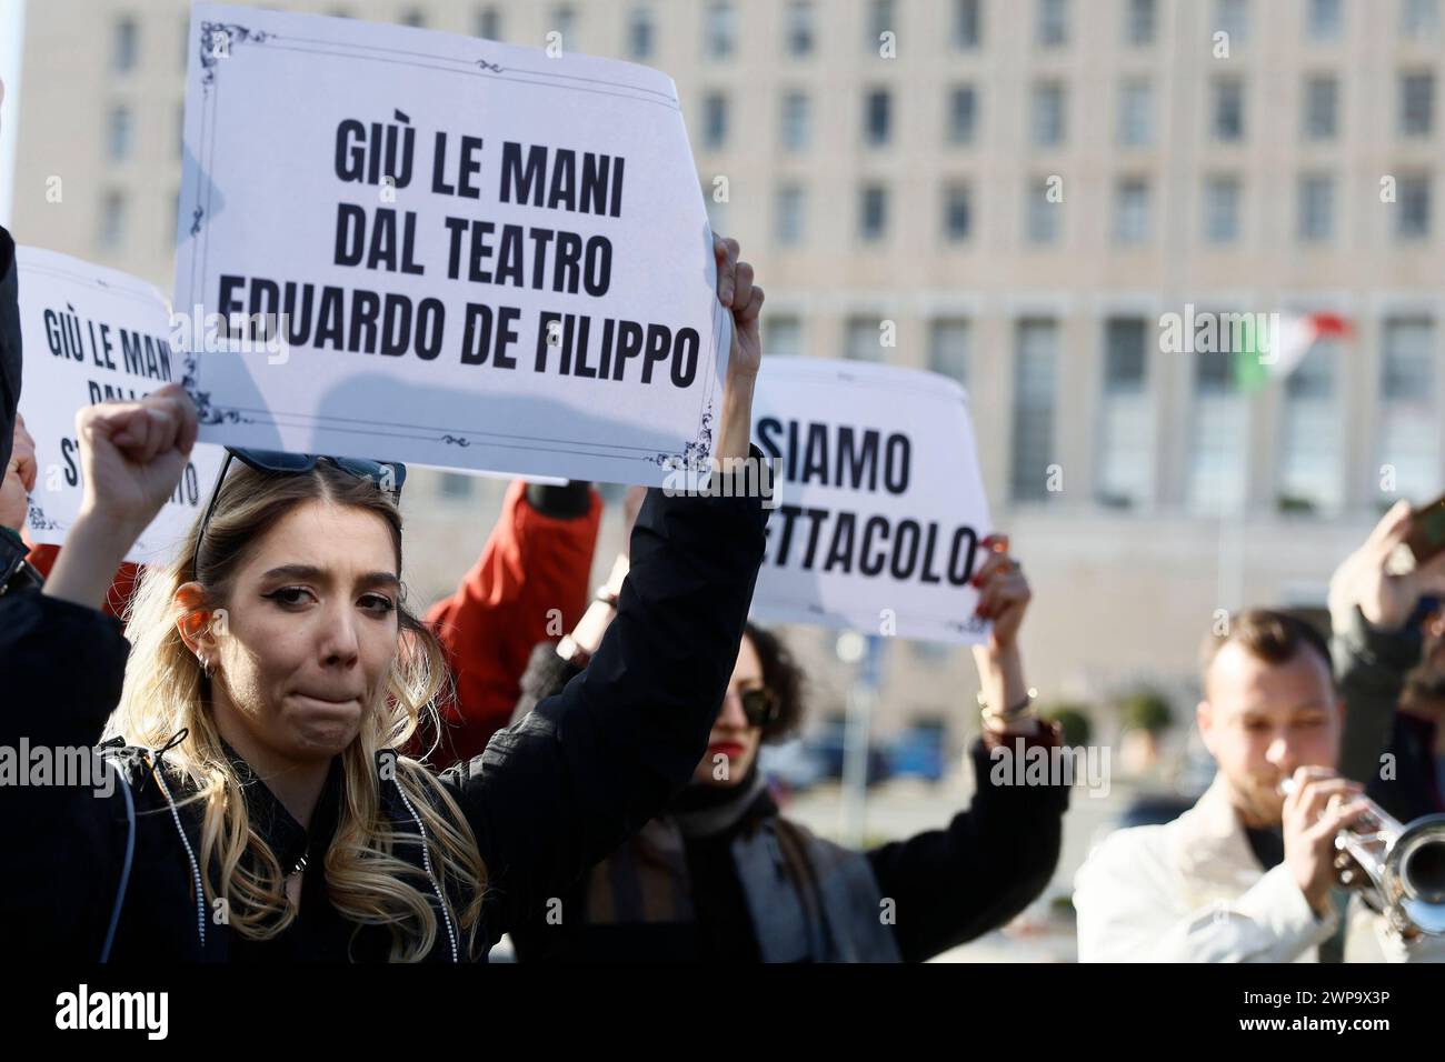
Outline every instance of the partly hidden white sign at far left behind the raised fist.
<path id="1" fill-rule="evenodd" d="M 62 545 L 84 493 L 75 413 L 110 399 L 134 402 L 181 379 L 168 342 L 171 308 L 150 285 L 55 251 L 16 249 L 25 366 L 20 413 L 35 436 L 35 490 L 26 533 Z M 169 561 L 210 497 L 224 457 L 197 444 L 181 483 L 127 561 Z"/>

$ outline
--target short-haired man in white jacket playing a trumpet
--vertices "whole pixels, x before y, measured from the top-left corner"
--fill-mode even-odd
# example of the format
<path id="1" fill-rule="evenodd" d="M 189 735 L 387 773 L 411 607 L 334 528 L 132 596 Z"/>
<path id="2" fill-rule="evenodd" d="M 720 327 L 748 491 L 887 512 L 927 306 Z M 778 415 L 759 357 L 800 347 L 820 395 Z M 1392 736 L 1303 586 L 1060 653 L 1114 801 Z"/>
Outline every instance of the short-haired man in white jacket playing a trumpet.
<path id="1" fill-rule="evenodd" d="M 1381 523 L 1371 543 L 1386 533 Z M 1422 568 L 1394 584 L 1406 613 L 1441 577 Z M 1360 782 L 1379 769 L 1389 725 L 1355 712 L 1345 727 L 1324 639 L 1251 610 L 1202 656 L 1198 725 L 1218 774 L 1178 819 L 1118 831 L 1081 867 L 1079 961 L 1309 962 L 1321 949 L 1348 962 L 1445 961 L 1445 938 L 1396 932 L 1335 887 L 1335 837 L 1368 815 Z"/>

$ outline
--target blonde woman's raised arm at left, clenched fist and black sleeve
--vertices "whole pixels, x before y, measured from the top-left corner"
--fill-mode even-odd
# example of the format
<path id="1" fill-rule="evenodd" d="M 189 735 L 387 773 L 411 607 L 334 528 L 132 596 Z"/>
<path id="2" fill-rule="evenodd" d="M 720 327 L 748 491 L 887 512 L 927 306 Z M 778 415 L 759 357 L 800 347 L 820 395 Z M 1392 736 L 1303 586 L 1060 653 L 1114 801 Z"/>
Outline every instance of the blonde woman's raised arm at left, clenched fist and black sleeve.
<path id="1" fill-rule="evenodd" d="M 91 756 L 120 699 L 129 644 L 100 611 L 116 565 L 175 487 L 195 410 L 179 389 L 143 402 L 104 403 L 77 416 L 85 498 L 43 591 L 0 597 L 0 746 L 52 764 L 45 785 L 0 786 L 0 838 L 23 873 L 0 876 L 0 910 L 22 954 L 97 958 L 90 931 L 114 890 L 124 822 L 114 769 Z M 64 777 L 61 766 L 65 766 Z M 101 926 L 103 928 L 103 926 Z"/>

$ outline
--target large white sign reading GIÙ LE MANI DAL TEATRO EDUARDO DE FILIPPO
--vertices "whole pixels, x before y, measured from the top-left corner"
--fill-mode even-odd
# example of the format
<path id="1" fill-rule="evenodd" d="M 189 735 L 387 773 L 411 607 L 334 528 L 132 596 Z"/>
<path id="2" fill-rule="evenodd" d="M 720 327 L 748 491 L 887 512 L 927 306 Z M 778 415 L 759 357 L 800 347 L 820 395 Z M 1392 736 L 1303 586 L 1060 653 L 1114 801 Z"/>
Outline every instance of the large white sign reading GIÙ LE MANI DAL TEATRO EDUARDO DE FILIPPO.
<path id="1" fill-rule="evenodd" d="M 175 305 L 201 438 L 653 485 L 705 462 L 731 322 L 670 78 L 191 17 Z"/>

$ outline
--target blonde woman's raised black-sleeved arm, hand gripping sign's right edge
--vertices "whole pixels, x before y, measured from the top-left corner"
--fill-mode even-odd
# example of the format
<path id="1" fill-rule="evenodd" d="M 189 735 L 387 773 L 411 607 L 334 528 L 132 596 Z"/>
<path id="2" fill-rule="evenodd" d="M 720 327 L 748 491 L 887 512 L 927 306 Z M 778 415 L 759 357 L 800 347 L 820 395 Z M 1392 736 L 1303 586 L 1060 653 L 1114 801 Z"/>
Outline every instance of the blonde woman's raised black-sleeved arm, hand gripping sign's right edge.
<path id="1" fill-rule="evenodd" d="M 760 461 L 747 436 L 763 293 L 736 243 L 718 253 L 718 295 L 736 328 L 715 457 Z M 762 498 L 731 493 L 650 490 L 617 616 L 587 669 L 444 776 L 488 867 L 490 935 L 520 905 L 561 896 L 656 815 L 702 757 L 764 548 Z"/>

